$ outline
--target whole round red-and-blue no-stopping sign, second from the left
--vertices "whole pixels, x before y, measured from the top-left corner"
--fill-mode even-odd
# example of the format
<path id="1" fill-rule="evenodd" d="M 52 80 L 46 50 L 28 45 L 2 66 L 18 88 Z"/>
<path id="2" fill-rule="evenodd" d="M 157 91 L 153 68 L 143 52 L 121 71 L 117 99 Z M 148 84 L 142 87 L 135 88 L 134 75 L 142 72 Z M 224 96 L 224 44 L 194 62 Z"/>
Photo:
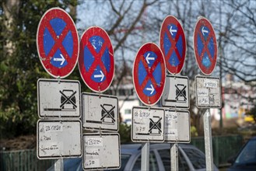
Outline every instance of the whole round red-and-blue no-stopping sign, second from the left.
<path id="1" fill-rule="evenodd" d="M 83 82 L 95 92 L 104 92 L 114 78 L 114 51 L 107 32 L 90 27 L 80 41 L 79 72 Z"/>

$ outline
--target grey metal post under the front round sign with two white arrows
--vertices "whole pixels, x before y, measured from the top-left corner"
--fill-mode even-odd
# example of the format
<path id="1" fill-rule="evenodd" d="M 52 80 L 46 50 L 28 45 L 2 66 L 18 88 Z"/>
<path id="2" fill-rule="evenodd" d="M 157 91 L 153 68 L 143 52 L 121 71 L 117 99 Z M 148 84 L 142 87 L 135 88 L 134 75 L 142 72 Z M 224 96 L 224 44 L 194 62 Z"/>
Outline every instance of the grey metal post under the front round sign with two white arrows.
<path id="1" fill-rule="evenodd" d="M 149 170 L 149 142 L 142 143 L 142 171 Z"/>

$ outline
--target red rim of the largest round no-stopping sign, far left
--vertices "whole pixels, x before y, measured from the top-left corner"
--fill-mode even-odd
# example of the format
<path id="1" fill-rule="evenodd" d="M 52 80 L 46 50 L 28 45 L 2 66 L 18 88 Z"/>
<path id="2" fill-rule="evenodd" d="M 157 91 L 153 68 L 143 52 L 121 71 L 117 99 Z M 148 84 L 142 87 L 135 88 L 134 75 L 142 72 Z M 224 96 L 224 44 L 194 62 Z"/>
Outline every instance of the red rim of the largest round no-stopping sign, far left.
<path id="1" fill-rule="evenodd" d="M 69 30 L 71 30 L 72 37 L 73 37 L 73 54 L 72 58 L 65 58 L 68 61 L 68 65 L 63 68 L 54 67 L 51 65 L 51 58 L 48 58 L 44 53 L 44 28 L 51 19 L 60 18 L 65 20 L 65 23 L 69 25 Z M 66 28 L 66 27 L 65 27 Z M 41 35 L 41 36 L 40 36 Z M 71 16 L 68 15 L 68 12 L 65 12 L 64 9 L 61 8 L 51 8 L 48 9 L 47 12 L 44 12 L 44 15 L 40 19 L 40 23 L 37 27 L 37 53 L 40 58 L 40 62 L 44 67 L 44 70 L 51 75 L 52 77 L 58 79 L 64 79 L 68 75 L 70 75 L 73 70 L 75 69 L 75 65 L 78 62 L 79 57 L 79 35 L 75 27 L 75 23 Z M 49 54 L 48 54 L 49 55 Z M 76 57 L 75 57 L 76 56 Z M 74 60 L 75 59 L 75 60 Z"/>

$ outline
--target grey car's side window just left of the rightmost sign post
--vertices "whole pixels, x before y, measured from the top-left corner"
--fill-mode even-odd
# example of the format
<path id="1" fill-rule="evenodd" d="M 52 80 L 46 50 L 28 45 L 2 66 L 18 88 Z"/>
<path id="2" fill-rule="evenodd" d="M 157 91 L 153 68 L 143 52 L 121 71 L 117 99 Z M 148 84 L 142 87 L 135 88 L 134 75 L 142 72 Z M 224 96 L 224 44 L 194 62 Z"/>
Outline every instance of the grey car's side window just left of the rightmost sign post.
<path id="1" fill-rule="evenodd" d="M 195 148 L 183 148 L 183 150 L 186 155 L 188 155 L 188 159 L 191 161 L 195 169 L 206 168 L 205 155 L 202 152 Z"/>

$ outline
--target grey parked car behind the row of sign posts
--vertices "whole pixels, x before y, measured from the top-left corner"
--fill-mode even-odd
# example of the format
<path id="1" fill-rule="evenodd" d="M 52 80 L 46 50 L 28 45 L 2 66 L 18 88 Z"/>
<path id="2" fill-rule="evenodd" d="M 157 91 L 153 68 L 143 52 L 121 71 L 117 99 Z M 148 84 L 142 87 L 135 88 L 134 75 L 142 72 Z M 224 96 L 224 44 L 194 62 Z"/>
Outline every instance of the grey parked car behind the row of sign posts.
<path id="1" fill-rule="evenodd" d="M 141 170 L 141 144 L 121 145 L 121 168 L 115 170 Z M 170 170 L 170 144 L 149 145 L 149 170 Z M 178 168 L 184 170 L 206 170 L 205 154 L 193 145 L 179 144 Z M 51 166 L 48 171 L 54 170 Z M 82 159 L 64 159 L 64 170 L 82 170 Z M 218 170 L 214 165 L 214 170 Z"/>

